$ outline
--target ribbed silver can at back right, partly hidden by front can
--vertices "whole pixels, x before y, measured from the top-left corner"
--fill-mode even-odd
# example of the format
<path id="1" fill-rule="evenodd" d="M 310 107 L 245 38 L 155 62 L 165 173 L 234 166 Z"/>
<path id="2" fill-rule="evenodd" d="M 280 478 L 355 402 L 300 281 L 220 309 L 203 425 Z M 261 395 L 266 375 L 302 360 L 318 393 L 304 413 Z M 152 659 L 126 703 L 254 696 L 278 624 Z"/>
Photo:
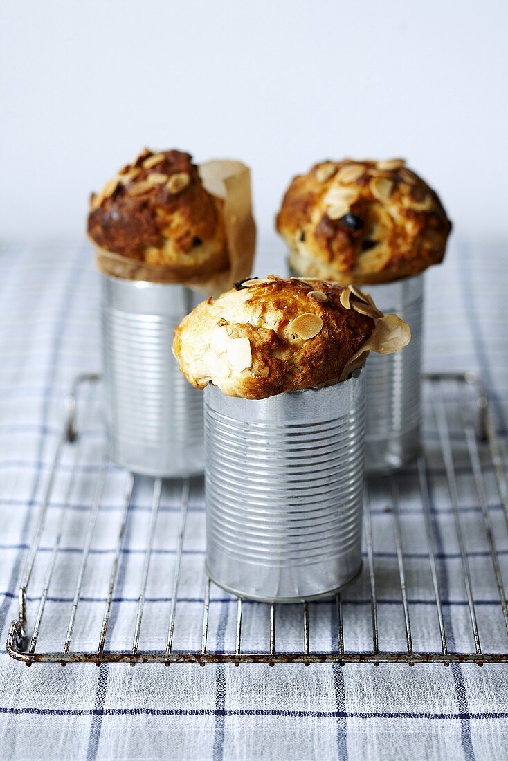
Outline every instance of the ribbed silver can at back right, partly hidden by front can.
<path id="1" fill-rule="evenodd" d="M 420 451 L 423 275 L 366 285 L 385 314 L 411 327 L 411 341 L 396 354 L 371 353 L 366 362 L 366 470 L 387 472 Z"/>

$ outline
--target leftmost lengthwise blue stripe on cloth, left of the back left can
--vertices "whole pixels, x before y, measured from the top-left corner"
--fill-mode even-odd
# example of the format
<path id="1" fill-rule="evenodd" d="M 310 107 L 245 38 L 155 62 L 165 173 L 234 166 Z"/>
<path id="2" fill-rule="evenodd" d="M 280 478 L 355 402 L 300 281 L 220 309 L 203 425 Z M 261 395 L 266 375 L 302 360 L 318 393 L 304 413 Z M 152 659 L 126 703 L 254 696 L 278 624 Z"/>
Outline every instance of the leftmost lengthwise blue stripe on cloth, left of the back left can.
<path id="1" fill-rule="evenodd" d="M 75 256 L 74 260 L 72 262 L 72 266 L 69 270 L 69 277 L 67 279 L 67 282 L 65 283 L 65 288 L 62 295 L 62 300 L 60 302 L 58 315 L 56 317 L 56 322 L 54 325 L 54 334 L 53 334 L 53 345 L 51 348 L 51 360 L 48 368 L 48 372 L 46 375 L 46 380 L 44 383 L 44 391 L 43 391 L 43 406 L 42 406 L 42 429 L 48 422 L 48 416 L 50 413 L 50 404 L 52 400 L 52 387 L 53 383 L 55 381 L 56 377 L 56 368 L 59 364 L 59 355 L 62 351 L 62 342 L 63 338 L 65 336 L 65 330 L 67 329 L 67 323 L 70 311 L 72 309 L 73 304 L 73 297 L 75 294 L 76 289 L 78 288 L 79 279 L 81 276 L 81 269 L 78 269 L 78 262 L 81 260 L 81 254 L 82 254 L 82 247 L 77 247 L 75 250 Z M 37 495 L 37 492 L 40 487 L 40 482 L 42 478 L 42 459 L 43 459 L 43 451 L 44 451 L 44 445 L 46 444 L 46 437 L 41 434 L 40 440 L 37 444 L 37 461 L 36 463 L 31 464 L 30 470 L 34 470 L 34 481 L 32 483 L 32 489 L 30 492 L 30 498 L 27 503 L 27 513 L 24 518 L 23 525 L 21 526 L 21 544 L 26 543 L 28 530 L 32 521 L 32 510 L 30 508 L 34 507 L 35 504 L 35 498 Z M 12 566 L 11 570 L 11 578 L 9 578 L 8 581 L 8 589 L 14 589 L 19 584 L 19 578 L 21 574 L 21 563 L 23 561 L 24 556 L 24 550 L 20 549 L 18 552 L 18 555 L 14 559 L 14 564 Z M 2 604 L 0 605 L 0 632 L 3 632 L 5 627 L 5 621 L 8 616 L 9 608 L 11 607 L 11 603 L 7 595 L 5 596 L 5 599 L 3 600 Z"/>

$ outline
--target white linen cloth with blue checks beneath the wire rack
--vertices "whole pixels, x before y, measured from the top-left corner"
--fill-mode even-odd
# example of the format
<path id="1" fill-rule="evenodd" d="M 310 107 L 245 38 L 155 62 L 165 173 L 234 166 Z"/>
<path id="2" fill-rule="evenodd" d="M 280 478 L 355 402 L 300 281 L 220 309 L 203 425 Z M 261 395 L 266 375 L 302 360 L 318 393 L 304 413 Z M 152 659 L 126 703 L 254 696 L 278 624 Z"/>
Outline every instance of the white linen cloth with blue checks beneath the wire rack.
<path id="1" fill-rule="evenodd" d="M 277 255 L 280 256 L 280 255 Z M 401 665 L 316 664 L 198 665 L 125 664 L 102 665 L 34 664 L 30 669 L 5 653 L 11 620 L 17 616 L 18 587 L 27 546 L 30 543 L 37 507 L 43 498 L 50 463 L 62 424 L 62 398 L 76 374 L 100 368 L 97 326 L 97 274 L 91 251 L 78 246 L 20 247 L 4 245 L 0 250 L 0 757 L 2 759 L 506 759 L 508 747 L 508 667 L 452 664 Z M 270 257 L 273 268 L 275 255 Z M 257 274 L 263 275 L 258 271 Z M 280 256 L 280 269 L 283 260 Z M 472 369 L 481 373 L 494 399 L 500 435 L 506 442 L 508 413 L 508 269 L 506 246 L 455 244 L 446 264 L 427 274 L 426 367 L 432 370 Z M 78 488 L 71 495 L 71 517 L 62 541 L 56 570 L 56 594 L 48 599 L 43 630 L 52 631 L 37 649 L 62 647 L 62 622 L 69 616 L 67 570 L 73 568 L 81 546 L 79 516 L 88 504 L 87 473 L 97 471 L 97 430 L 87 431 L 85 458 L 78 463 Z M 98 436 L 100 438 L 100 436 Z M 64 460 L 63 471 L 68 466 Z M 490 474 L 491 475 L 491 474 Z M 435 492 L 439 479 L 434 473 Z M 64 497 L 65 477 L 53 492 L 51 515 L 58 517 Z M 115 537 L 107 521 L 120 511 L 125 474 L 119 469 L 108 476 L 104 495 L 103 545 L 91 554 L 90 578 L 81 619 L 76 622 L 73 645 L 85 647 L 87 632 L 91 645 L 104 612 L 107 583 Z M 490 487 L 489 497 L 495 501 Z M 133 616 L 139 594 L 136 549 L 143 546 L 149 510 L 149 486 L 140 479 L 136 486 L 127 527 L 126 544 L 120 559 L 107 648 L 132 644 Z M 88 502 L 87 502 L 88 500 Z M 160 520 L 174 530 L 178 519 L 180 489 L 165 486 Z M 499 501 L 497 499 L 497 501 Z M 405 511 L 417 505 L 405 504 Z M 53 509 L 54 508 L 54 509 Z M 380 507 L 380 512 L 382 508 Z M 451 525 L 449 507 L 436 505 L 437 520 L 446 533 Z M 467 514 L 468 550 L 471 572 L 478 574 L 490 559 L 481 537 L 481 517 L 469 495 Z M 494 530 L 508 582 L 506 559 L 508 537 L 500 505 L 492 504 Z M 109 517 L 108 517 L 109 516 Z M 56 518 L 55 518 L 56 519 Z M 380 519 L 381 520 L 381 519 Z M 136 522 L 137 521 L 137 522 Z M 200 481 L 190 491 L 188 535 L 184 549 L 181 596 L 193 589 L 202 576 L 203 491 Z M 382 527 L 382 523 L 379 524 Z M 143 528 L 144 527 L 144 528 Z M 504 533 L 503 533 L 504 532 Z M 381 529 L 382 533 L 382 529 Z M 380 535 L 381 536 L 381 535 Z M 382 538 L 382 537 L 381 537 Z M 477 543 L 478 539 L 478 543 Z M 168 564 L 174 554 L 158 552 L 157 539 L 145 607 L 141 648 L 162 646 L 163 629 L 158 612 L 167 621 L 171 601 Z M 375 543 L 377 537 L 375 537 Z M 408 573 L 417 574 L 417 552 L 407 549 Z M 44 538 L 43 543 L 44 547 Z M 50 548 L 48 548 L 50 549 Z M 438 555 L 439 555 L 439 547 Z M 46 553 L 49 556 L 49 552 Z M 375 562 L 395 569 L 395 552 L 379 552 Z M 142 558 L 141 553 L 139 557 Z M 141 561 L 142 562 L 142 561 Z M 416 564 L 413 568 L 413 562 Z M 452 589 L 458 573 L 458 554 L 439 556 L 442 581 Z M 70 564 L 70 565 L 69 565 Z M 170 569 L 171 570 L 171 569 Z M 481 580 L 480 580 L 480 583 Z M 388 584 L 388 582 L 387 582 Z M 446 585 L 445 585 L 446 586 Z M 37 588 L 37 584 L 34 584 Z M 360 626 L 369 621 L 366 578 L 346 600 L 351 608 L 345 616 L 346 647 L 370 648 L 371 630 Z M 490 587 L 489 587 L 490 589 Z M 70 591 L 69 591 L 70 590 Z M 379 589 L 380 648 L 404 647 L 400 596 L 389 599 L 389 588 Z M 447 589 L 445 588 L 445 593 Z M 427 597 L 424 597 L 424 593 Z M 454 593 L 455 594 L 455 593 Z M 456 648 L 471 650 L 465 596 L 450 597 L 445 606 L 446 627 Z M 492 648 L 506 651 L 506 632 L 499 622 L 499 604 L 494 592 L 481 600 L 481 633 Z M 395 597 L 395 596 L 394 596 Z M 201 593 L 202 599 L 202 593 Z M 178 608 L 175 647 L 187 642 L 198 649 L 202 601 L 186 598 Z M 29 600 L 33 626 L 37 599 Z M 324 603 L 330 604 L 330 603 Z M 410 599 L 414 631 L 427 636 L 427 619 L 436 624 L 430 587 L 422 599 Z M 65 615 L 62 614 L 65 607 Z M 361 609 L 361 610 L 360 610 Z M 245 606 L 244 637 L 255 639 L 256 616 L 261 607 Z M 367 613 L 366 613 L 367 611 Z M 429 613 L 430 611 L 430 613 Z M 359 617 L 362 613 L 361 618 Z M 492 619 L 489 618 L 492 616 Z M 179 624 L 184 622 L 184 631 Z M 357 628 L 355 622 L 357 622 Z M 420 625 L 420 628 L 419 626 Z M 60 629 L 59 629 L 60 626 Z M 159 626 L 159 629 L 158 629 Z M 281 616 L 280 629 L 285 626 Z M 330 607 L 329 627 L 311 630 L 311 648 L 336 647 L 336 620 Z M 81 627 L 81 628 L 80 628 Z M 289 647 L 301 648 L 299 633 L 292 634 L 286 622 Z M 235 630 L 235 605 L 228 595 L 212 587 L 209 647 L 223 648 Z M 266 631 L 266 626 L 263 631 Z M 81 633 L 80 633 L 81 632 Z M 279 629 L 278 629 L 279 632 Z M 434 630 L 435 633 L 435 630 Z M 42 635 L 41 635 L 42 636 Z M 64 632 L 65 638 L 65 632 Z M 415 642 L 415 647 L 419 643 Z M 252 642 L 260 649 L 266 642 Z M 421 643 L 420 643 L 421 645 Z"/>

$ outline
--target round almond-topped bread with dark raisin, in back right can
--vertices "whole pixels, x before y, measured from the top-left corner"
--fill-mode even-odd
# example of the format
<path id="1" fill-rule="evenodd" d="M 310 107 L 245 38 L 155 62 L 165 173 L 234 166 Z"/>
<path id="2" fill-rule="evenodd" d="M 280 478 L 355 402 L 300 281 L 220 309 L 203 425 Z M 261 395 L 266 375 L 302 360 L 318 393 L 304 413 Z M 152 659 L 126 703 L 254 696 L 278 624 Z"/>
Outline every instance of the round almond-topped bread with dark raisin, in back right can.
<path id="1" fill-rule="evenodd" d="M 361 285 L 417 275 L 441 262 L 452 224 L 433 189 L 403 159 L 348 158 L 295 177 L 276 228 L 296 274 Z"/>

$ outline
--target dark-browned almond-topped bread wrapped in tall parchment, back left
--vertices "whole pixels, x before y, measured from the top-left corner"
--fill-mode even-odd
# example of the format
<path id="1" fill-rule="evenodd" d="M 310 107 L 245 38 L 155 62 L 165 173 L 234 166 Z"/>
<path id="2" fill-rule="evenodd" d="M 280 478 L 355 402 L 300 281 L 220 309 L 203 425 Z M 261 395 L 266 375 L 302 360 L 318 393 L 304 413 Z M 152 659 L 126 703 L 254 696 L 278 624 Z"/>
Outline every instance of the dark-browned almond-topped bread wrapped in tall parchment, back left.
<path id="1" fill-rule="evenodd" d="M 91 196 L 97 246 L 186 277 L 228 266 L 222 199 L 203 187 L 188 153 L 147 148 Z"/>

